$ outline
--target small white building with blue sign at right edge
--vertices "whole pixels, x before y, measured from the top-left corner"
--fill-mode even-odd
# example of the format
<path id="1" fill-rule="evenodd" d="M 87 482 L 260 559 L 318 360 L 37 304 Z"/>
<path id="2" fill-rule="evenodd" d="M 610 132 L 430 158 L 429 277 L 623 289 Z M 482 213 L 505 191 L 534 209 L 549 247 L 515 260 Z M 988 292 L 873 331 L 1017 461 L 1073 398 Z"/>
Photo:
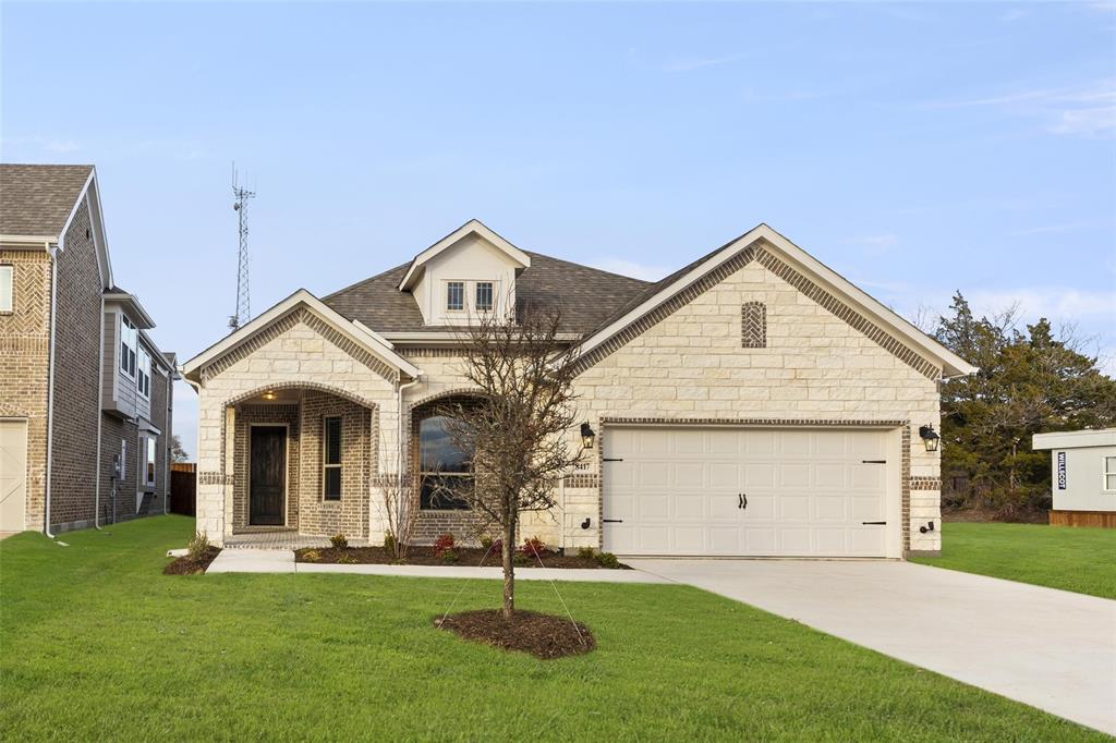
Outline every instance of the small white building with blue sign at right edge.
<path id="1" fill-rule="evenodd" d="M 1116 528 L 1116 428 L 1035 434 L 1050 450 L 1050 523 Z"/>

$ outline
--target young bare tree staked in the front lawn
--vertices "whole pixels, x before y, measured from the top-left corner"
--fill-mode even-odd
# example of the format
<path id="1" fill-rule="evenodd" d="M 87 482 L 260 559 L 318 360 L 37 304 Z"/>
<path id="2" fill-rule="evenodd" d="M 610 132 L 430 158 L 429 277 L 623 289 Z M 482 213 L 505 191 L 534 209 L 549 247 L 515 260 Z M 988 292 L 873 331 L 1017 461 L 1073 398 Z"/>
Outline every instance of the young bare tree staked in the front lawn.
<path id="1" fill-rule="evenodd" d="M 571 446 L 573 361 L 559 336 L 560 312 L 520 311 L 478 318 L 462 331 L 461 374 L 472 402 L 442 407 L 453 445 L 468 453 L 466 484 L 446 492 L 498 527 L 502 541 L 503 616 L 516 610 L 516 531 L 520 514 L 555 505 L 555 490 L 581 461 Z"/>

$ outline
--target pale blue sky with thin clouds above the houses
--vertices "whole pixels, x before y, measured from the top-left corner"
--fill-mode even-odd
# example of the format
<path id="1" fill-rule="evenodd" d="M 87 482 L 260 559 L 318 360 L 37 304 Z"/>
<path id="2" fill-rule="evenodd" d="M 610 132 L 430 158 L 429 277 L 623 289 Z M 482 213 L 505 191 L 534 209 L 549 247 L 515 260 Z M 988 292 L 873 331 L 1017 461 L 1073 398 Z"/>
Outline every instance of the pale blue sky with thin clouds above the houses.
<path id="1" fill-rule="evenodd" d="M 908 316 L 960 289 L 1116 354 L 1112 3 L 4 2 L 0 21 L 0 156 L 97 165 L 117 282 L 183 359 L 233 310 L 233 160 L 258 192 L 256 313 L 470 218 L 643 278 L 768 222 Z"/>

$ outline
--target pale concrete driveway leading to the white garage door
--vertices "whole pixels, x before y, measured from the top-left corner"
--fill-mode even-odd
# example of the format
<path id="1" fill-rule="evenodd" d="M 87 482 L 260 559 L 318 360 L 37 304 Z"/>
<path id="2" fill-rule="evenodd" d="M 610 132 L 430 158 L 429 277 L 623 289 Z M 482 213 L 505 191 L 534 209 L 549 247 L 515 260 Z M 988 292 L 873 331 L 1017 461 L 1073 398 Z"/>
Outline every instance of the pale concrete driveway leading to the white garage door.
<path id="1" fill-rule="evenodd" d="M 911 562 L 625 562 L 1116 734 L 1116 601 Z"/>

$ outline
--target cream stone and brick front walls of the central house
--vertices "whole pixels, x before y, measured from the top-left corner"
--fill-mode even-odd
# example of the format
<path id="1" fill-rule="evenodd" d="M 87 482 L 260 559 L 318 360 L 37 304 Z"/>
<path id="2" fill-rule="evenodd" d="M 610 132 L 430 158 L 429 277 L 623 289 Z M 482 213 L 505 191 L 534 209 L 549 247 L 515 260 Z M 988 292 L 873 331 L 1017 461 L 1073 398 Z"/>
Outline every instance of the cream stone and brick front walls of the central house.
<path id="1" fill-rule="evenodd" d="M 319 396 L 348 401 L 354 413 L 367 412 L 367 423 L 354 431 L 346 418 L 346 437 L 362 432 L 371 437 L 369 466 L 353 470 L 366 473 L 367 495 L 357 488 L 366 508 L 363 515 L 354 512 L 348 520 L 329 523 L 376 542 L 385 525 L 377 505 L 378 476 L 401 469 L 413 475 L 416 422 L 424 409 L 470 392 L 461 375 L 461 357 L 452 348 L 398 348 L 423 370 L 420 382 L 400 388 L 398 379 L 354 358 L 329 339 L 320 324 L 298 312 L 307 310 L 261 330 L 244 345 L 249 350 L 233 351 L 201 369 L 199 524 L 215 541 L 233 533 L 238 524 L 231 492 L 239 462 L 227 432 L 238 425 L 239 401 L 264 389 L 299 388 L 309 390 L 304 393 L 304 407 L 317 390 Z M 521 535 L 539 535 L 567 549 L 602 546 L 599 453 L 610 425 L 870 426 L 894 432 L 902 470 L 904 550 L 940 549 L 939 530 L 918 531 L 941 517 L 939 454 L 925 452 L 912 436 L 921 425 L 940 423 L 941 370 L 934 363 L 761 245 L 743 251 L 714 279 L 696 282 L 637 326 L 584 358 L 576 382 L 578 419 L 598 432 L 598 444 L 587 452 L 584 469 L 562 483 L 552 512 L 525 515 Z M 304 469 L 298 529 L 328 533 L 331 525 L 310 527 L 304 510 L 312 501 L 304 491 L 319 490 L 320 469 L 305 466 L 310 438 L 306 411 L 300 415 Z M 404 452 L 398 447 L 401 430 L 410 438 Z M 320 451 L 320 441 L 312 446 Z M 570 432 L 570 446 L 580 446 L 576 430 Z M 367 528 L 353 518 L 366 518 Z M 586 519 L 587 529 L 581 525 Z M 469 538 L 479 531 L 479 522 L 468 512 L 422 515 L 423 541 L 446 530 Z"/>

